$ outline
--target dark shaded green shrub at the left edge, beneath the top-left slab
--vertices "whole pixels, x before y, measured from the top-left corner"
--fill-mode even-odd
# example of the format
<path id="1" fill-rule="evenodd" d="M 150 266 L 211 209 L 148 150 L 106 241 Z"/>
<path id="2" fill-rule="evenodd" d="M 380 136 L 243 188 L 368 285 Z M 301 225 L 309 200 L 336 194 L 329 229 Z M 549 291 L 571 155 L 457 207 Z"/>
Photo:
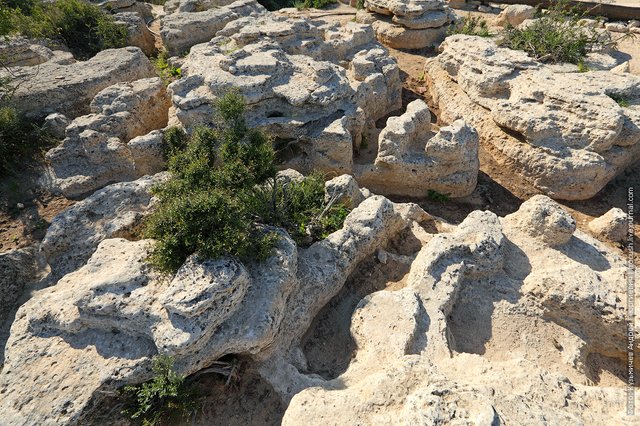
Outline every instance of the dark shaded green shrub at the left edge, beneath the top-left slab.
<path id="1" fill-rule="evenodd" d="M 0 107 L 0 176 L 53 146 L 54 139 L 11 106 Z"/>

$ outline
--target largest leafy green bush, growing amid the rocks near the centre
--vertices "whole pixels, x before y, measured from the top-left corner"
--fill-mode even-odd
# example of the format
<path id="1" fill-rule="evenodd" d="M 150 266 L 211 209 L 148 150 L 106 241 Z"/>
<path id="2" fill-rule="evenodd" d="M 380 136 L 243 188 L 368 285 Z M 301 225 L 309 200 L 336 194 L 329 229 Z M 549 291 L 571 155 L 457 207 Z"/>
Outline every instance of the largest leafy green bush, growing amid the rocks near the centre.
<path id="1" fill-rule="evenodd" d="M 165 134 L 171 179 L 154 188 L 159 205 L 145 225 L 145 236 L 158 240 L 154 266 L 175 271 L 193 253 L 264 259 L 277 241 L 265 225 L 300 241 L 340 227 L 346 214 L 338 206 L 324 211 L 320 177 L 286 187 L 275 179 L 271 142 L 246 126 L 242 97 L 222 97 L 216 121 L 216 128 L 196 128 L 188 142 L 178 130 Z"/>

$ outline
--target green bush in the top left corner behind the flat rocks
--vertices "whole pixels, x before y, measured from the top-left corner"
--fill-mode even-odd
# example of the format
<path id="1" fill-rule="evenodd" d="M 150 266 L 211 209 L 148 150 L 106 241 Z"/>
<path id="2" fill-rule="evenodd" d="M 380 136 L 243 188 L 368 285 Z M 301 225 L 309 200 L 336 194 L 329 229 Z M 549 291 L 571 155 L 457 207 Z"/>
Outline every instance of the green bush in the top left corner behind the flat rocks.
<path id="1" fill-rule="evenodd" d="M 126 45 L 127 29 L 84 0 L 13 0 L 0 4 L 0 35 L 61 41 L 80 58 Z"/>

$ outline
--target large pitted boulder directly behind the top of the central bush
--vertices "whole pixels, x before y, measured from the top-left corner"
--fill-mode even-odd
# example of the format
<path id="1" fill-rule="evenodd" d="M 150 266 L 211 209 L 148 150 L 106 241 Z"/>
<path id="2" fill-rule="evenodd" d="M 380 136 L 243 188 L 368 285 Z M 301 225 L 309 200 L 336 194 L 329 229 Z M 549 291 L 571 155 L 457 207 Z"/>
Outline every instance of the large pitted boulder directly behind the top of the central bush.
<path id="1" fill-rule="evenodd" d="M 398 66 L 367 26 L 268 14 L 217 34 L 191 49 L 169 86 L 187 129 L 211 122 L 211 103 L 233 87 L 248 124 L 275 137 L 283 166 L 344 173 L 365 125 L 400 107 Z"/>

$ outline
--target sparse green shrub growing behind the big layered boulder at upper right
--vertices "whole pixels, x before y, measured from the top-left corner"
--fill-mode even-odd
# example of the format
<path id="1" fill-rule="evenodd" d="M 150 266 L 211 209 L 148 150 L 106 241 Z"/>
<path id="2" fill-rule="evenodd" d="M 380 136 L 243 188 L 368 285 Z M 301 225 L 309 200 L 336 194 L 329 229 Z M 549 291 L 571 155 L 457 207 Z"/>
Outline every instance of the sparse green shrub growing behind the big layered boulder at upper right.
<path id="1" fill-rule="evenodd" d="M 507 26 L 500 44 L 524 50 L 541 62 L 579 64 L 590 51 L 614 44 L 606 32 L 580 24 L 585 14 L 570 7 L 568 0 L 556 0 L 530 25 Z"/>

